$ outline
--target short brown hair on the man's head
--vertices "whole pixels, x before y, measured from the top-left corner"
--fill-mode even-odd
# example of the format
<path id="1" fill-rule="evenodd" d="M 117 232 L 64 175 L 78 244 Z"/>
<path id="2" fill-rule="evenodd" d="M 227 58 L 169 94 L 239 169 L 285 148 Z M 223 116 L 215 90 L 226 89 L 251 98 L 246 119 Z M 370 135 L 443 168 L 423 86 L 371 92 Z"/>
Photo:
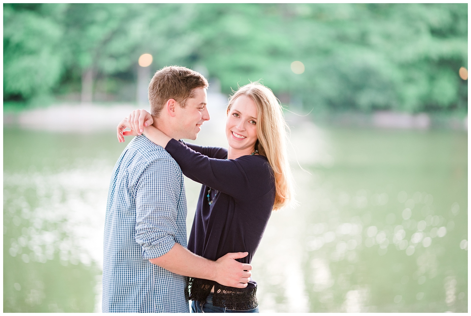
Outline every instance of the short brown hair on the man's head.
<path id="1" fill-rule="evenodd" d="M 174 99 L 184 108 L 187 99 L 195 97 L 196 88 L 207 87 L 208 81 L 199 72 L 177 66 L 162 68 L 155 72 L 149 84 L 150 114 L 159 117 L 169 99 Z"/>

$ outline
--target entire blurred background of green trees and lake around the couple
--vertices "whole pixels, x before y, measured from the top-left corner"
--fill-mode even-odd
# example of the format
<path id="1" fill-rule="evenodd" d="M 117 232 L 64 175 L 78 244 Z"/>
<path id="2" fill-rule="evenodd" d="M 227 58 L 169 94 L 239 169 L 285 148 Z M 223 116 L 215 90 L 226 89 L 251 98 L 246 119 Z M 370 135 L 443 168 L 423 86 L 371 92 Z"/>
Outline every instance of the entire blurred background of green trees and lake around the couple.
<path id="1" fill-rule="evenodd" d="M 252 261 L 261 312 L 466 312 L 467 12 L 4 4 L 3 311 L 101 311 L 106 196 L 130 140 L 115 126 L 154 71 L 182 65 L 211 83 L 201 145 L 227 146 L 227 95 L 249 80 L 313 110 L 285 113 L 300 206 L 273 213 Z M 200 184 L 185 186 L 190 228 Z"/>

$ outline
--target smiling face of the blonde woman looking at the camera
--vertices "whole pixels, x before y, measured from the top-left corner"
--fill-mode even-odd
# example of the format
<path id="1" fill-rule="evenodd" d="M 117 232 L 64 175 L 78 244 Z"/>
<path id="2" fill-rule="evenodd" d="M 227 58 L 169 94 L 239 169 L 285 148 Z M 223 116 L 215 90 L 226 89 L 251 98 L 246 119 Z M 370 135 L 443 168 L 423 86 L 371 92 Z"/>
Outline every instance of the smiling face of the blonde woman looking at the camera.
<path id="1" fill-rule="evenodd" d="M 247 95 L 238 96 L 227 113 L 226 137 L 229 146 L 244 150 L 257 142 L 257 106 Z"/>

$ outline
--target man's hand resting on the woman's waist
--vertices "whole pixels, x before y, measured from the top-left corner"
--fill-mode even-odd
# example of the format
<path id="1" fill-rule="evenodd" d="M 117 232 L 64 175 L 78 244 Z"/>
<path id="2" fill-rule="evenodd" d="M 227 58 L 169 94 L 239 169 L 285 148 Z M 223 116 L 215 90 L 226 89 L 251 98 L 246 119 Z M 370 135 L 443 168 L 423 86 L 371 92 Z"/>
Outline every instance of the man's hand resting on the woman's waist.
<path id="1" fill-rule="evenodd" d="M 213 280 L 225 286 L 244 288 L 252 276 L 252 266 L 235 259 L 244 258 L 249 253 L 227 253 L 216 261 Z"/>

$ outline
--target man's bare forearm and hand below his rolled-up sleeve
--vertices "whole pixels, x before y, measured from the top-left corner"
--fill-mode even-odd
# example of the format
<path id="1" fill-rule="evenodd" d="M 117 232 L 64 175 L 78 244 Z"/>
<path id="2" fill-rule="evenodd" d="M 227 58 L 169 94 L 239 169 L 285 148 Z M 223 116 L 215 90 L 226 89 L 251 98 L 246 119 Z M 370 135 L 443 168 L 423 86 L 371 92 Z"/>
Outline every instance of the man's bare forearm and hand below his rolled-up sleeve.
<path id="1" fill-rule="evenodd" d="M 180 244 L 175 243 L 164 255 L 149 261 L 173 273 L 213 280 L 225 286 L 244 288 L 250 281 L 252 266 L 235 259 L 244 258 L 248 253 L 227 253 L 217 261 L 200 257 Z"/>

